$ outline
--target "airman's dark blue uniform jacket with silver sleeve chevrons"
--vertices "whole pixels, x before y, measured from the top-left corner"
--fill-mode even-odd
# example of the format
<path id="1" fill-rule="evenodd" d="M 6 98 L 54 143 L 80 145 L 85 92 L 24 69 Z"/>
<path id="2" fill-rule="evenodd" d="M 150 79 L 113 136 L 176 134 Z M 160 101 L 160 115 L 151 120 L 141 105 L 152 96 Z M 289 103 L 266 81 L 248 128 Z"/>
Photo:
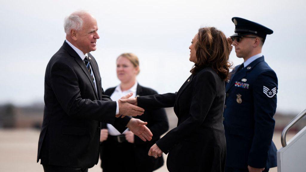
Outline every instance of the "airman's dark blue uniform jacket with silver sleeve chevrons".
<path id="1" fill-rule="evenodd" d="M 232 72 L 226 84 L 223 124 L 226 136 L 226 166 L 271 168 L 277 166 L 272 141 L 278 80 L 275 72 L 257 58 Z"/>

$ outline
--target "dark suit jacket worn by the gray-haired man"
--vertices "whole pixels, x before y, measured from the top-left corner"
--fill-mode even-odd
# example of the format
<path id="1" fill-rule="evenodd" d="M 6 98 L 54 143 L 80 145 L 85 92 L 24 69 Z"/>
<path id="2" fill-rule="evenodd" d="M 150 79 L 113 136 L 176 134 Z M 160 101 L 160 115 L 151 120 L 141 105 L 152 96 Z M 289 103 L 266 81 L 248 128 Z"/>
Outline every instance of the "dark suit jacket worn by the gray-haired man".
<path id="1" fill-rule="evenodd" d="M 68 43 L 47 65 L 37 162 L 91 168 L 99 160 L 100 122 L 114 124 L 121 132 L 126 129 L 130 118 L 115 119 L 116 102 L 104 95 L 98 65 L 88 56 L 97 91 L 85 63 Z"/>

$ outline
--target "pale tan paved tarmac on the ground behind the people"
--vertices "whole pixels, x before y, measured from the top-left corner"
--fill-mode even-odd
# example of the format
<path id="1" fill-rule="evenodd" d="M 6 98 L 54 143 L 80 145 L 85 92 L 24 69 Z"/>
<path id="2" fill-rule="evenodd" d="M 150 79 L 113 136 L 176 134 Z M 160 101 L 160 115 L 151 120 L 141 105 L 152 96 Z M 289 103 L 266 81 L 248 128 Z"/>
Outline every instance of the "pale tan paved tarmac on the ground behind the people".
<path id="1" fill-rule="evenodd" d="M 294 134 L 288 134 L 290 140 Z M 279 149 L 281 133 L 274 133 L 273 141 Z M 43 167 L 36 163 L 39 131 L 34 129 L 0 129 L 0 171 L 2 172 L 42 172 Z M 164 154 L 166 160 L 166 155 Z M 100 162 L 89 172 L 101 172 Z M 156 172 L 166 172 L 166 163 Z M 277 167 L 270 172 L 277 172 Z"/>

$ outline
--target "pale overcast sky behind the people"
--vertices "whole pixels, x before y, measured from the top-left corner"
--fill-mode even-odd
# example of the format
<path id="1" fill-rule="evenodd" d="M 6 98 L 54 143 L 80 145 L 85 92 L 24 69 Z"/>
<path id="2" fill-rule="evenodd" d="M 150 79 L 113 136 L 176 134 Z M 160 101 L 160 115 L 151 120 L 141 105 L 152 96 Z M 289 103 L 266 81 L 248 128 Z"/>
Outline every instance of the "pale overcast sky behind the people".
<path id="1" fill-rule="evenodd" d="M 266 62 L 278 76 L 278 111 L 306 108 L 306 2 L 300 1 L 3 1 L 0 6 L 0 104 L 43 102 L 44 74 L 65 40 L 63 21 L 77 9 L 97 19 L 100 39 L 92 52 L 104 89 L 119 84 L 115 59 L 123 52 L 140 59 L 137 77 L 159 93 L 176 92 L 187 77 L 189 45 L 200 27 L 234 33 L 232 17 L 271 28 L 263 46 Z M 234 65 L 243 59 L 230 54 Z"/>

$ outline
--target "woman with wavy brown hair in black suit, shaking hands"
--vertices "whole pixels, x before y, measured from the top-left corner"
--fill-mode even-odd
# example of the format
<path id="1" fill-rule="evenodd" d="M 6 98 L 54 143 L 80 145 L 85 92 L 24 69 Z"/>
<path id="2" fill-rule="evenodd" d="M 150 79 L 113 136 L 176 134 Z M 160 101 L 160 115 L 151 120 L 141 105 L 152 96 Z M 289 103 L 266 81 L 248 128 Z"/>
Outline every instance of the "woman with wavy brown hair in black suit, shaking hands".
<path id="1" fill-rule="evenodd" d="M 189 60 L 195 65 L 178 92 L 125 101 L 145 110 L 174 107 L 177 127 L 156 141 L 148 153 L 155 158 L 169 153 L 170 172 L 223 172 L 226 143 L 222 116 L 231 45 L 214 27 L 200 28 L 191 43 Z"/>

